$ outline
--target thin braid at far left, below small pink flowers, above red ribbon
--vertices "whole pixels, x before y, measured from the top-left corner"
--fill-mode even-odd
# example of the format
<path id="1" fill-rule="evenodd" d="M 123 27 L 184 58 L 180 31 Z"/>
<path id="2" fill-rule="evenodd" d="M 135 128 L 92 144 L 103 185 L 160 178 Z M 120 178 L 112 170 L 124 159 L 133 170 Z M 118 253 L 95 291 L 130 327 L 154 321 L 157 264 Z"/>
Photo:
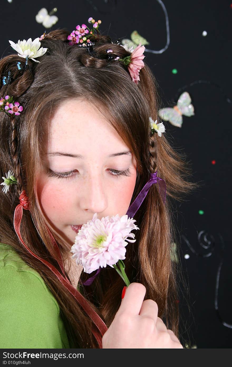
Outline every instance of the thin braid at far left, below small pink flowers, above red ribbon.
<path id="1" fill-rule="evenodd" d="M 16 125 L 16 117 L 12 117 L 11 121 L 11 155 L 12 155 L 12 166 L 14 167 L 15 178 L 17 180 L 17 187 L 19 195 L 23 191 L 22 178 L 20 175 L 21 167 L 18 156 L 18 135 L 17 135 L 17 125 Z"/>

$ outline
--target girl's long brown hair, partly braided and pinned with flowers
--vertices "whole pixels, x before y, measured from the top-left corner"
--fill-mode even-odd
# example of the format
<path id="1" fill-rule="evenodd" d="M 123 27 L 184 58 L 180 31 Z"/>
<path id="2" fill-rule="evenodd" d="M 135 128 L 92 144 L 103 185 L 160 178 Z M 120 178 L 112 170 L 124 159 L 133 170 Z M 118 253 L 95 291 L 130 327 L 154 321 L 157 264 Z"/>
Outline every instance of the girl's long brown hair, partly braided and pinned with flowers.
<path id="1" fill-rule="evenodd" d="M 11 54 L 0 60 L 0 75 L 11 70 L 14 81 L 3 86 L 0 97 L 10 95 L 23 105 L 20 116 L 8 117 L 0 113 L 0 176 L 14 171 L 18 185 L 10 191 L 0 190 L 3 205 L 0 212 L 0 240 L 10 244 L 21 258 L 38 271 L 60 305 L 71 348 L 98 348 L 91 333 L 91 320 L 58 278 L 38 259 L 32 257 L 15 234 L 14 209 L 19 195 L 26 190 L 31 214 L 23 211 L 21 235 L 34 254 L 46 259 L 58 270 L 58 260 L 45 229 L 45 218 L 38 207 L 34 192 L 41 162 L 43 139 L 52 118 L 64 98 L 85 98 L 107 117 L 132 151 L 137 162 L 137 178 L 132 201 L 149 179 L 150 173 L 166 182 L 166 204 L 163 204 L 158 185 L 152 185 L 146 199 L 135 214 L 136 242 L 126 247 L 126 273 L 131 282 L 143 283 L 147 289 L 145 299 L 154 299 L 158 316 L 167 328 L 178 336 L 177 267 L 172 262 L 172 243 L 175 240 L 172 199 L 183 200 L 183 194 L 198 187 L 189 182 L 190 169 L 184 154 L 171 148 L 167 132 L 150 136 L 149 117 L 158 119 L 158 85 L 150 68 L 140 70 L 138 85 L 132 82 L 128 69 L 120 61 L 108 61 L 107 48 L 120 57 L 129 56 L 124 47 L 113 44 L 110 37 L 95 40 L 96 57 L 85 48 L 69 46 L 66 29 L 48 33 L 41 46 L 47 52 L 38 60 L 30 61 L 29 69 L 19 71 L 22 61 Z M 52 233 L 65 261 L 70 248 Z M 45 245 L 45 246 L 44 246 Z M 69 269 L 66 270 L 68 277 Z M 84 282 L 88 276 L 81 274 Z M 102 269 L 91 286 L 82 288 L 85 298 L 109 327 L 121 304 L 124 283 L 111 267 Z"/>

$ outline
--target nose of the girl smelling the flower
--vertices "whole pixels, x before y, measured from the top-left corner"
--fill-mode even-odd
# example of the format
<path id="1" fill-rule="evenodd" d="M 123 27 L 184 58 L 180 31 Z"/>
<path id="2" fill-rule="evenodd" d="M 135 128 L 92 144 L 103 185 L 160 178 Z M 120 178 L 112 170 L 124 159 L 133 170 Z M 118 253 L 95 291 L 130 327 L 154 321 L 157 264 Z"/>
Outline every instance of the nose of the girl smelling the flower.
<path id="1" fill-rule="evenodd" d="M 108 200 L 102 173 L 92 171 L 86 174 L 82 187 L 81 209 L 93 214 L 104 212 L 108 206 Z"/>

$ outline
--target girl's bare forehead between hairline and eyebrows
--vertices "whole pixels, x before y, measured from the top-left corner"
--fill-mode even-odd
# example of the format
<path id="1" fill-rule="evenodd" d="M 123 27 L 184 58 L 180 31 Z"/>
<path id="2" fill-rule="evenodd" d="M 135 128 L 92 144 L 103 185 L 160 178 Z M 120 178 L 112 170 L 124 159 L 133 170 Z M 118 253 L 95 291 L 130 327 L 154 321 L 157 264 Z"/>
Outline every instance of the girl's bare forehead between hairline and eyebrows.
<path id="1" fill-rule="evenodd" d="M 107 152 L 128 148 L 107 117 L 91 103 L 80 99 L 60 104 L 49 120 L 46 146 L 47 152 L 59 150 L 82 155 L 99 148 Z"/>

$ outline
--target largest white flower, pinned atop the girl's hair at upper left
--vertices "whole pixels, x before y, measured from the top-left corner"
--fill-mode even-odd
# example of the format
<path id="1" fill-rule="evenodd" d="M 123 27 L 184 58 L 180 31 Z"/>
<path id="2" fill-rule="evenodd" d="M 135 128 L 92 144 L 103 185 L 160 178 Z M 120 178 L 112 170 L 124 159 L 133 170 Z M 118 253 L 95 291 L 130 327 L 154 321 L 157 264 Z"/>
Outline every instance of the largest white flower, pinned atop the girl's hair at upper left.
<path id="1" fill-rule="evenodd" d="M 41 47 L 40 48 L 40 39 L 37 37 L 32 41 L 31 38 L 29 38 L 27 41 L 18 40 L 18 43 L 14 43 L 10 41 L 11 47 L 14 48 L 15 51 L 18 52 L 18 56 L 26 58 L 28 56 L 29 59 L 32 59 L 35 62 L 40 62 L 38 60 L 35 60 L 36 57 L 40 57 L 45 54 L 47 51 L 47 48 Z"/>

